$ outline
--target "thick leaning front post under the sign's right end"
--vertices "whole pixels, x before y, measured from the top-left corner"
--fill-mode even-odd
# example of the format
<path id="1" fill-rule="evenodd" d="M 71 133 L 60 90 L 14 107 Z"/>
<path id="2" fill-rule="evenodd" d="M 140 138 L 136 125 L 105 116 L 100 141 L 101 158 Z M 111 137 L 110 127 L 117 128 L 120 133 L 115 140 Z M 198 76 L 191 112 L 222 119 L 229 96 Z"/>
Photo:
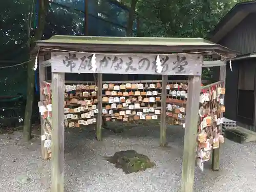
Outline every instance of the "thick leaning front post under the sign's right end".
<path id="1" fill-rule="evenodd" d="M 181 192 L 193 192 L 201 76 L 188 78 Z"/>

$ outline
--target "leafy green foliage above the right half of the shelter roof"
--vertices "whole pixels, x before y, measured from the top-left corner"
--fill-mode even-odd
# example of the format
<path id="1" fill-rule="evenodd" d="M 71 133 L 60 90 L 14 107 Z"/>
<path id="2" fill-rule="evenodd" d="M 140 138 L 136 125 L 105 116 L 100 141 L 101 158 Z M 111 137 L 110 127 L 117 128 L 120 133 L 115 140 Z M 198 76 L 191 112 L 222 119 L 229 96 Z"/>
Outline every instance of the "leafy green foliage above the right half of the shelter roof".
<path id="1" fill-rule="evenodd" d="M 143 17 L 140 35 L 206 38 L 234 4 L 234 0 L 140 0 L 136 8 Z"/>

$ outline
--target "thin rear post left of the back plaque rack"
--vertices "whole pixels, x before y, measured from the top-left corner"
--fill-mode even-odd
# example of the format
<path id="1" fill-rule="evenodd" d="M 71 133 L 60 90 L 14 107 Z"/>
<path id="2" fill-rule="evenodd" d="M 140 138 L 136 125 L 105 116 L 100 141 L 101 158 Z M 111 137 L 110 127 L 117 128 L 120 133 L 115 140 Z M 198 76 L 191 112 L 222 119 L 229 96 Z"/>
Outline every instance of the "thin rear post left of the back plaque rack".
<path id="1" fill-rule="evenodd" d="M 98 141 L 102 141 L 102 73 L 97 74 L 97 99 L 98 99 L 98 110 L 97 114 L 97 127 L 96 136 Z"/>

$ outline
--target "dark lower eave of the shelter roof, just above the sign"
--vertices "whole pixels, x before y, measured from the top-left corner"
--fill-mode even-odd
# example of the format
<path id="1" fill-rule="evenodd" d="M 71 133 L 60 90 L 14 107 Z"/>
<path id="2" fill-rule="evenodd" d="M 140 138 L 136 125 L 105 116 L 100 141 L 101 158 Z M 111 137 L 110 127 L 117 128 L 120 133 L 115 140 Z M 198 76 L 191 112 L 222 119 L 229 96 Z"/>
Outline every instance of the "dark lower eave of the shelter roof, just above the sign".
<path id="1" fill-rule="evenodd" d="M 112 45 L 112 44 L 71 44 L 65 42 L 37 42 L 37 46 L 43 50 L 49 49 L 49 51 L 84 51 L 84 52 L 113 52 L 113 53 L 188 53 L 188 52 L 210 52 L 213 55 L 217 52 L 224 57 L 235 57 L 236 51 L 230 50 L 220 45 L 210 46 L 197 46 L 197 45 L 185 45 L 185 46 L 163 46 L 163 45 Z"/>

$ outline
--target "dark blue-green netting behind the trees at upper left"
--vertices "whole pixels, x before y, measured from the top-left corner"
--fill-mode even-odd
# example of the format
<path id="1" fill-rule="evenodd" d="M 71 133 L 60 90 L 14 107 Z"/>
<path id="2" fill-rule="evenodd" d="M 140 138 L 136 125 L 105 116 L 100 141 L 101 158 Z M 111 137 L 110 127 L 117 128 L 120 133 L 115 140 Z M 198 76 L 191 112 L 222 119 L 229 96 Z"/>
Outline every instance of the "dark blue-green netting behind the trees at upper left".
<path id="1" fill-rule="evenodd" d="M 129 10 L 125 6 L 112 0 L 89 0 L 88 4 L 89 35 L 126 35 Z M 28 5 L 30 5 L 29 2 L 8 1 L 8 6 L 13 10 L 5 7 L 0 9 L 8 14 L 2 19 L 3 42 L 6 46 L 0 49 L 0 60 L 2 60 L 0 67 L 12 66 L 28 60 L 29 53 L 26 45 Z M 84 16 L 86 15 L 84 7 L 84 0 L 53 0 L 47 13 L 47 25 L 43 38 L 50 38 L 52 35 L 84 35 Z M 136 33 L 136 26 L 135 22 L 134 33 Z M 0 97 L 16 95 L 26 97 L 26 66 L 25 64 L 0 69 Z"/>

